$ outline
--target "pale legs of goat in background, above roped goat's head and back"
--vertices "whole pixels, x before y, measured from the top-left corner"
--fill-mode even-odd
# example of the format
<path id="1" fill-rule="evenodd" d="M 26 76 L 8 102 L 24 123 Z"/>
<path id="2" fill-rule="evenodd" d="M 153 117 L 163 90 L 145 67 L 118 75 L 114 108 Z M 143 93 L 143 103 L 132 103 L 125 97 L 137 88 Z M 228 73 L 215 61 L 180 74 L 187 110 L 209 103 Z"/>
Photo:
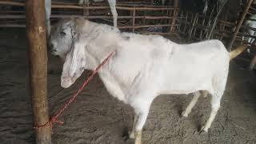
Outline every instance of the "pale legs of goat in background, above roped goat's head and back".
<path id="1" fill-rule="evenodd" d="M 103 2 L 104 0 L 93 0 L 94 2 Z M 110 4 L 110 10 L 113 15 L 114 26 L 118 26 L 118 12 L 115 8 L 116 0 L 107 0 Z M 88 3 L 89 0 L 78 0 L 78 4 Z M 50 14 L 51 14 L 51 0 L 45 0 L 46 7 L 46 26 L 47 26 L 47 36 L 50 35 Z"/>

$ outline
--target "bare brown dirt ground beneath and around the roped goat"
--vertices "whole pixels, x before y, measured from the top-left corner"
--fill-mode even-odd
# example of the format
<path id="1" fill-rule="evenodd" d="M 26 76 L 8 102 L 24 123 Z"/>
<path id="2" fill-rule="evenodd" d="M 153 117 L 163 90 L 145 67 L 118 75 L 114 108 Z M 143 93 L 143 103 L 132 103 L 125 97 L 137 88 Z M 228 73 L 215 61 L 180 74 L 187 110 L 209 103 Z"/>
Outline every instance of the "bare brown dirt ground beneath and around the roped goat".
<path id="1" fill-rule="evenodd" d="M 0 142 L 34 143 L 25 30 L 0 30 Z M 69 89 L 60 86 L 61 64 L 49 54 L 48 95 L 54 114 L 82 84 L 82 77 Z M 188 118 L 180 118 L 190 102 L 186 95 L 162 95 L 154 100 L 142 132 L 144 144 L 256 144 L 255 73 L 231 62 L 226 93 L 208 134 L 199 134 L 210 114 L 210 97 L 199 98 Z M 55 125 L 55 144 L 130 144 L 124 135 L 132 126 L 133 110 L 108 94 L 95 77 Z"/>

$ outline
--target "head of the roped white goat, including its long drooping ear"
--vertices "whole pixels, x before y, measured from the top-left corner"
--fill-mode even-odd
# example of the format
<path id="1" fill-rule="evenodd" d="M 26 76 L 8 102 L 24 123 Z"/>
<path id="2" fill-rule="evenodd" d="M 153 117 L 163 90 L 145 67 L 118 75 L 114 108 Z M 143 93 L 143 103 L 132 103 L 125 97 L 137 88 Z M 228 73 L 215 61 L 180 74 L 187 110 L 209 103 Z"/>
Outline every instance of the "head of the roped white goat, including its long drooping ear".
<path id="1" fill-rule="evenodd" d="M 86 66 L 85 46 L 79 42 L 85 22 L 83 18 L 62 19 L 51 29 L 51 53 L 65 60 L 61 80 L 64 88 L 71 86 Z"/>

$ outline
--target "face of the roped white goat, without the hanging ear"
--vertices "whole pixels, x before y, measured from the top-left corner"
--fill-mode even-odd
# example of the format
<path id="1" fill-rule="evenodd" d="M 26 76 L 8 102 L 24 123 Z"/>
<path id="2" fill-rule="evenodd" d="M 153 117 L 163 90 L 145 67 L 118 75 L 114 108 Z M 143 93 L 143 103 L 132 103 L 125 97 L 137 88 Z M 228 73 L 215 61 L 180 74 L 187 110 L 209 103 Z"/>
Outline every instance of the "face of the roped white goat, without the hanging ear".
<path id="1" fill-rule="evenodd" d="M 62 19 L 50 31 L 49 45 L 51 54 L 66 58 L 66 54 L 78 38 L 76 20 Z"/>

